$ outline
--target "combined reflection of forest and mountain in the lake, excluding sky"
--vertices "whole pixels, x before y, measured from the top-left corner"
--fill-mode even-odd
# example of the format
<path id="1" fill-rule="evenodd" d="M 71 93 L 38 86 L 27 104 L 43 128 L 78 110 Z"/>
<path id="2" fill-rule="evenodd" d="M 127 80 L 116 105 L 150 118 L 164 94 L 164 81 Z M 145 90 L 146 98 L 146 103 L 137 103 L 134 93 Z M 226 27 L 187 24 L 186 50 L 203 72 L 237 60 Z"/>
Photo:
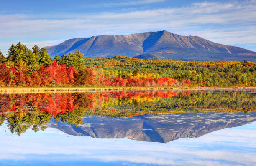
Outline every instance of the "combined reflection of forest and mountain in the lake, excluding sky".
<path id="1" fill-rule="evenodd" d="M 0 126 L 166 143 L 256 121 L 255 108 L 255 90 L 0 94 Z"/>

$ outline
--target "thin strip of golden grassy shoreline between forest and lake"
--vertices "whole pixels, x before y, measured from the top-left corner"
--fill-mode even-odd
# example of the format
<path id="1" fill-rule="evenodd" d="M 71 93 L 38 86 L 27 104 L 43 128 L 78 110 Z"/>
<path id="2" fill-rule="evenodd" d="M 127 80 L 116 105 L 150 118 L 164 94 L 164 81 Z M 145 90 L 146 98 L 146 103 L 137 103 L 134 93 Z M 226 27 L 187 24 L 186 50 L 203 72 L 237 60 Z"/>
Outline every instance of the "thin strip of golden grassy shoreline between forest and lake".
<path id="1" fill-rule="evenodd" d="M 123 90 L 207 90 L 207 89 L 256 89 L 256 87 L 0 87 L 0 93 L 88 92 Z"/>

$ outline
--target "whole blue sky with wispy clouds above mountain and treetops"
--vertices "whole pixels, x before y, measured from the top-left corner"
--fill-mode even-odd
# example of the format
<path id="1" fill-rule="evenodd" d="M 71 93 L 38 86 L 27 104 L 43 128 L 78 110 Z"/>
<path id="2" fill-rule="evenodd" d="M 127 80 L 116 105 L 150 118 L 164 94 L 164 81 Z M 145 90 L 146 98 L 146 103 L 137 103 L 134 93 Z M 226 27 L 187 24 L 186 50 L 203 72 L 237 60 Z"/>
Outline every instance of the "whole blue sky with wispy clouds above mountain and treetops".
<path id="1" fill-rule="evenodd" d="M 167 30 L 256 51 L 256 0 L 0 0 L 0 49 Z"/>

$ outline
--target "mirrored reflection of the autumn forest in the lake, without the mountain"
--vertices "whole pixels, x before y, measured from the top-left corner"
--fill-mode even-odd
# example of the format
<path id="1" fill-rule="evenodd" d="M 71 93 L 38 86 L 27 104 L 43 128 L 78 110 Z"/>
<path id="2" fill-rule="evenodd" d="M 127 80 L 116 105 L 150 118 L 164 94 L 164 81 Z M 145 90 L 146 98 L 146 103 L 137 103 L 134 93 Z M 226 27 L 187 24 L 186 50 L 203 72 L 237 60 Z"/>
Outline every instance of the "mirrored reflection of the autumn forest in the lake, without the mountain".
<path id="1" fill-rule="evenodd" d="M 255 111 L 256 96 L 246 92 L 110 91 L 102 93 L 0 94 L 0 126 L 12 133 L 45 130 L 47 123 L 80 126 L 85 116 L 133 117 L 184 112 Z"/>

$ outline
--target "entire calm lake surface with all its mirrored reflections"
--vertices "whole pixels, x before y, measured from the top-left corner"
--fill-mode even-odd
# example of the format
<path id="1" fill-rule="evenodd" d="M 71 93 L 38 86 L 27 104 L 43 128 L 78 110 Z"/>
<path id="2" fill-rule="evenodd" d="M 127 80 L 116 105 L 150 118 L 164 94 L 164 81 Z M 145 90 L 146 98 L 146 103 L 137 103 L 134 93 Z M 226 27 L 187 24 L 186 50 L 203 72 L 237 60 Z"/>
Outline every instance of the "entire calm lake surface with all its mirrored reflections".
<path id="1" fill-rule="evenodd" d="M 0 94 L 0 165 L 256 165 L 256 90 Z"/>

